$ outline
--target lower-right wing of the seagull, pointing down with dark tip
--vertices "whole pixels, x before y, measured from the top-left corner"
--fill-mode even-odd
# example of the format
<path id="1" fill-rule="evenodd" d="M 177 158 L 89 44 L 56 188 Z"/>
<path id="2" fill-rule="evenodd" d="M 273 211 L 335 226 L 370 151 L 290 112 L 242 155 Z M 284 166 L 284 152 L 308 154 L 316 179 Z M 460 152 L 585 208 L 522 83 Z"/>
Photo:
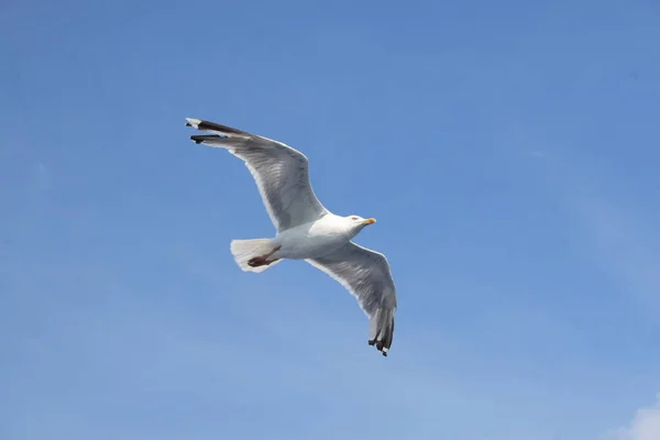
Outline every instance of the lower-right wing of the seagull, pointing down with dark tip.
<path id="1" fill-rule="evenodd" d="M 396 287 L 385 255 L 353 242 L 320 258 L 307 260 L 341 283 L 370 318 L 370 345 L 387 355 L 394 336 Z"/>

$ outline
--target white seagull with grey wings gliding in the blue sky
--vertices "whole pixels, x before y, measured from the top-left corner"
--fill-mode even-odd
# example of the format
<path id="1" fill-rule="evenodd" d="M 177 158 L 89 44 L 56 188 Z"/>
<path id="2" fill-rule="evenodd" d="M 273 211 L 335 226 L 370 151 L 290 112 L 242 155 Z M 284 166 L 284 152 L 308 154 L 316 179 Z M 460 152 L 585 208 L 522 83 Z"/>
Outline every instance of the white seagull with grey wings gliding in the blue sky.
<path id="1" fill-rule="evenodd" d="M 370 320 L 369 344 L 384 355 L 392 346 L 396 287 L 387 258 L 352 239 L 374 218 L 336 216 L 316 197 L 308 161 L 282 143 L 215 122 L 186 118 L 197 144 L 228 150 L 241 158 L 276 229 L 272 239 L 233 240 L 231 253 L 244 272 L 263 272 L 283 260 L 305 260 L 355 297 Z"/>

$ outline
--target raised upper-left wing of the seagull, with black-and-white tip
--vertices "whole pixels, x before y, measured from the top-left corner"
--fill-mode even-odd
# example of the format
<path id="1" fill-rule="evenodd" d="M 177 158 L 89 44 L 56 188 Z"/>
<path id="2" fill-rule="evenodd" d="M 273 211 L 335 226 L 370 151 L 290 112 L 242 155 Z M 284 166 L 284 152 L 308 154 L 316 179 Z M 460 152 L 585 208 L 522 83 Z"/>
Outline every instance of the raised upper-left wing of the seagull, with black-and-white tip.
<path id="1" fill-rule="evenodd" d="M 186 125 L 212 133 L 193 135 L 193 141 L 227 148 L 245 162 L 278 232 L 317 220 L 328 212 L 311 188 L 307 157 L 299 151 L 230 127 L 186 120 Z"/>

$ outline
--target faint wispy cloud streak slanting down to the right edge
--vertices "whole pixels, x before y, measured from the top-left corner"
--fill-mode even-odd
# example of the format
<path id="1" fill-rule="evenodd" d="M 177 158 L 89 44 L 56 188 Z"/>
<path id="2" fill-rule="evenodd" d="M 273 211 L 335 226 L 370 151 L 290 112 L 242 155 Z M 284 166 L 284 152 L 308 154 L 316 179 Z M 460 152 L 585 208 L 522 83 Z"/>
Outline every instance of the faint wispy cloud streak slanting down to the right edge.
<path id="1" fill-rule="evenodd" d="M 547 150 L 522 131 L 515 135 L 534 156 Z M 588 258 L 635 300 L 660 310 L 660 234 L 650 227 L 653 211 L 628 202 L 622 185 L 591 165 L 594 157 L 578 157 L 562 147 L 552 151 L 542 153 L 542 169 L 575 215 Z"/>

